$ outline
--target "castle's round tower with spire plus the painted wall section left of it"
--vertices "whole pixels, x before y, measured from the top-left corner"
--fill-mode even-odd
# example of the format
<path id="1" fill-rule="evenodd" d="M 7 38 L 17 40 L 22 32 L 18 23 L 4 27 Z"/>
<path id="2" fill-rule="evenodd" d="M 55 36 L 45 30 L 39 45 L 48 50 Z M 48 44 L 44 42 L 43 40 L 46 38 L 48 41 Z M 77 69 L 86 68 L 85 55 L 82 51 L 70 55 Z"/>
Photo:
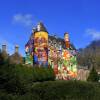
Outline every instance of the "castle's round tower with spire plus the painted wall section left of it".
<path id="1" fill-rule="evenodd" d="M 48 32 L 42 22 L 32 30 L 31 37 L 25 45 L 26 64 L 48 65 Z"/>

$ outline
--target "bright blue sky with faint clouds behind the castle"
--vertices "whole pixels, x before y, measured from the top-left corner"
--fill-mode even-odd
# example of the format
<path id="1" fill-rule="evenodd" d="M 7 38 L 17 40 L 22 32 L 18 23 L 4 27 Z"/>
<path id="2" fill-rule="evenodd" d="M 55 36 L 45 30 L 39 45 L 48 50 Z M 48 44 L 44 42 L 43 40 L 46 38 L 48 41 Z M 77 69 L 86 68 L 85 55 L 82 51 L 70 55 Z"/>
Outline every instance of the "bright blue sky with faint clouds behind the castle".
<path id="1" fill-rule="evenodd" d="M 100 39 L 100 0 L 0 0 L 0 47 L 7 44 L 12 54 L 15 45 L 25 56 L 32 28 L 43 22 L 50 35 L 64 37 L 77 49 Z"/>

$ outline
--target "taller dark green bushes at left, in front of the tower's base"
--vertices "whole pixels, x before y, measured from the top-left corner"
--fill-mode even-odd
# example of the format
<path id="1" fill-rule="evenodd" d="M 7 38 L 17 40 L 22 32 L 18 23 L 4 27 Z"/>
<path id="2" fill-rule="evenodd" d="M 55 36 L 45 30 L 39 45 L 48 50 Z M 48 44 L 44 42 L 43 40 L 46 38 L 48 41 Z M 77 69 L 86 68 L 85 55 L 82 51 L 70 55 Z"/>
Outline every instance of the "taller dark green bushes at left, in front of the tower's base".
<path id="1" fill-rule="evenodd" d="M 25 65 L 9 64 L 9 59 L 0 56 L 0 89 L 12 94 L 25 94 L 37 81 L 54 80 L 51 68 L 33 68 Z"/>

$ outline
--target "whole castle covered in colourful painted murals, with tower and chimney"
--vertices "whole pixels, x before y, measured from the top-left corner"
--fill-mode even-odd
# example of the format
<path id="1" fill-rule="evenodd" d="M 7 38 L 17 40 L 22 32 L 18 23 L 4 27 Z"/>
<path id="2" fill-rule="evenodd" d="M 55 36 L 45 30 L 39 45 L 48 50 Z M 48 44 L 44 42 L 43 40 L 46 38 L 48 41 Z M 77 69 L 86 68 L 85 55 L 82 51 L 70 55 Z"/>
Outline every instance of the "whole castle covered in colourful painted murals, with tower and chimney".
<path id="1" fill-rule="evenodd" d="M 25 45 L 25 53 L 25 64 L 52 67 L 57 79 L 77 77 L 76 49 L 68 33 L 64 39 L 50 36 L 43 23 L 38 23 Z"/>

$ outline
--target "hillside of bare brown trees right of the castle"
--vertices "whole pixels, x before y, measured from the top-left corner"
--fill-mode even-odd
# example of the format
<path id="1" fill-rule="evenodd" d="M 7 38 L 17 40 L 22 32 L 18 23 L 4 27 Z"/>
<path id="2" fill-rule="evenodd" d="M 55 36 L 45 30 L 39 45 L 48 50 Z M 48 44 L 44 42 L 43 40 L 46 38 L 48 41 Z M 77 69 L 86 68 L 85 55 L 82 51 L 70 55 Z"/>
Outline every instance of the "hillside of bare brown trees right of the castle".
<path id="1" fill-rule="evenodd" d="M 100 40 L 92 41 L 86 48 L 79 49 L 78 64 L 100 70 Z"/>

